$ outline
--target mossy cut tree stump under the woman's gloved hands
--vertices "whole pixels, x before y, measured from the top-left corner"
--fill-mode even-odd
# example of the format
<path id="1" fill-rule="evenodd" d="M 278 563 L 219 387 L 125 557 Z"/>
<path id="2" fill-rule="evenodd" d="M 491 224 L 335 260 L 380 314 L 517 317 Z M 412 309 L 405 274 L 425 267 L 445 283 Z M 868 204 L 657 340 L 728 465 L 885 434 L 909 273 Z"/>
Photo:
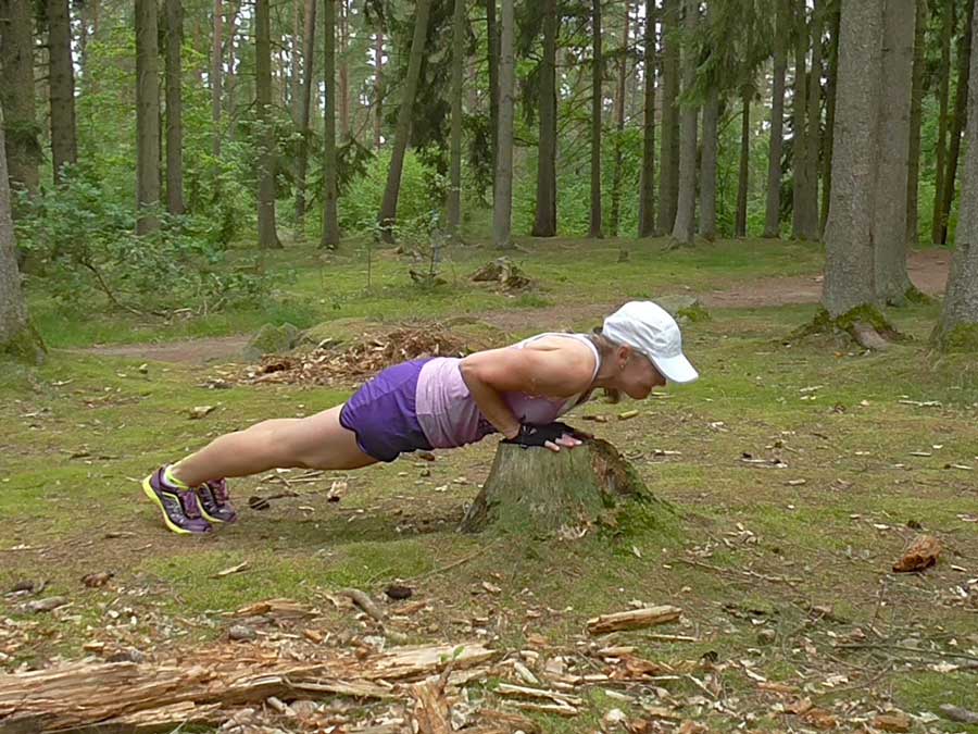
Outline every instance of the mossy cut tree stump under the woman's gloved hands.
<path id="1" fill-rule="evenodd" d="M 559 452 L 500 443 L 489 478 L 462 520 L 464 533 L 492 527 L 550 534 L 598 524 L 614 526 L 619 510 L 656 499 L 638 472 L 606 440 L 590 438 Z"/>

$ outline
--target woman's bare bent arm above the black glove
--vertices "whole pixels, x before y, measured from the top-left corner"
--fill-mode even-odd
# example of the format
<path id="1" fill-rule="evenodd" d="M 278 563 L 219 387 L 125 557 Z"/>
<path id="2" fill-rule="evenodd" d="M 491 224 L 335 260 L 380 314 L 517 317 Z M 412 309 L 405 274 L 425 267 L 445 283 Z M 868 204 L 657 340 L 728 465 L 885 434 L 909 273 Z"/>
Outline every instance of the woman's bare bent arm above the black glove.
<path id="1" fill-rule="evenodd" d="M 462 360 L 462 380 L 486 419 L 506 438 L 519 433 L 519 421 L 503 393 L 567 398 L 590 387 L 594 359 L 579 344 L 552 349 L 489 349 Z"/>

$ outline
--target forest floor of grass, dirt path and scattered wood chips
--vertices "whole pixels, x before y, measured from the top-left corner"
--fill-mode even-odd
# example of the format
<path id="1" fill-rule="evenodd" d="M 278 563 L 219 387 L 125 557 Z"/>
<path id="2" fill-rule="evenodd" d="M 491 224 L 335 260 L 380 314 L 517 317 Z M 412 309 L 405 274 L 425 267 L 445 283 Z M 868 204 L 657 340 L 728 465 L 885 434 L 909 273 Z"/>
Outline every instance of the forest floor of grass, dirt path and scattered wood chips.
<path id="1" fill-rule="evenodd" d="M 469 248 L 449 264 L 462 273 L 494 256 Z M 948 256 L 914 253 L 921 289 L 941 290 Z M 831 335 L 790 338 L 820 289 L 820 250 L 798 242 L 665 252 L 562 240 L 518 256 L 538 287 L 517 295 L 461 274 L 443 291 L 412 288 L 386 252 L 373 256 L 371 288 L 359 251 L 278 257 L 298 275 L 256 313 L 83 318 L 30 293 L 54 349 L 38 369 L 0 364 L 0 727 L 45 671 L 78 675 L 59 716 L 82 717 L 84 681 L 104 687 L 118 668 L 104 661 L 128 660 L 127 696 L 176 701 L 174 681 L 206 689 L 161 713 L 165 731 L 230 717 L 240 731 L 401 731 L 423 694 L 398 683 L 400 669 L 368 672 L 381 648 L 439 644 L 464 647 L 430 664 L 459 658 L 443 696 L 471 731 L 978 732 L 946 708 L 978 710 L 978 364 L 928 353 L 938 303 L 890 310 L 913 340 L 867 353 Z M 167 533 L 139 492 L 148 471 L 214 436 L 350 395 L 343 381 L 236 380 L 242 368 L 227 362 L 241 334 L 266 321 L 392 327 L 467 314 L 510 338 L 589 328 L 612 304 L 664 293 L 710 311 L 684 331 L 702 378 L 641 403 L 595 400 L 568 421 L 603 419 L 584 425 L 626 453 L 676 521 L 575 539 L 460 534 L 492 439 L 350 474 L 235 481 L 241 519 L 206 537 Z M 175 359 L 191 336 L 208 348 Z M 894 573 L 920 534 L 941 545 L 936 565 Z M 411 598 L 388 599 L 391 584 Z M 351 587 L 386 614 L 383 627 L 352 606 Z M 52 597 L 63 604 L 33 611 Z M 253 607 L 276 598 L 290 604 Z M 587 631 L 642 605 L 681 615 Z M 493 657 L 469 661 L 480 646 Z M 221 664 L 239 676 L 236 699 L 222 698 Z M 319 665 L 319 691 L 303 665 Z M 246 685 L 242 671 L 266 675 Z M 153 675 L 170 687 L 148 685 Z M 548 693 L 514 698 L 504 684 Z M 136 711 L 99 705 L 102 721 Z"/>

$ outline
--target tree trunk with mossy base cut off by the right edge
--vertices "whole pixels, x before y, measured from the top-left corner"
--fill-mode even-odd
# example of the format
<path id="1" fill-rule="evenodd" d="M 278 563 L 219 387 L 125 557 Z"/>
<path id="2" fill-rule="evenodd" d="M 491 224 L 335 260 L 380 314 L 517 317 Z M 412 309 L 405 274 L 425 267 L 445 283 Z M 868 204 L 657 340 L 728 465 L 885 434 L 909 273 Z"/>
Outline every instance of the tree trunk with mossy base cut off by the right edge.
<path id="1" fill-rule="evenodd" d="M 978 45 L 978 24 L 973 20 L 971 47 Z M 978 53 L 973 53 L 967 95 L 967 158 L 962 173 L 961 215 L 955 252 L 948 277 L 948 293 L 933 333 L 942 349 L 978 350 Z"/>

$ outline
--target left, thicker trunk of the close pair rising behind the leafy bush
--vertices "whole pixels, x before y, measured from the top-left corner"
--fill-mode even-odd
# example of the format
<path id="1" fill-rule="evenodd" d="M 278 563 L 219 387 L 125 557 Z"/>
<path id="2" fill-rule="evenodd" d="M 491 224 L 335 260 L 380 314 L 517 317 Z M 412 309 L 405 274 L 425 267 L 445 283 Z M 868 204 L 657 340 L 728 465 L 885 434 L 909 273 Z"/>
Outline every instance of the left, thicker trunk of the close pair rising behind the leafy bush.
<path id="1" fill-rule="evenodd" d="M 136 1 L 136 233 L 160 228 L 160 51 L 156 0 Z"/>

